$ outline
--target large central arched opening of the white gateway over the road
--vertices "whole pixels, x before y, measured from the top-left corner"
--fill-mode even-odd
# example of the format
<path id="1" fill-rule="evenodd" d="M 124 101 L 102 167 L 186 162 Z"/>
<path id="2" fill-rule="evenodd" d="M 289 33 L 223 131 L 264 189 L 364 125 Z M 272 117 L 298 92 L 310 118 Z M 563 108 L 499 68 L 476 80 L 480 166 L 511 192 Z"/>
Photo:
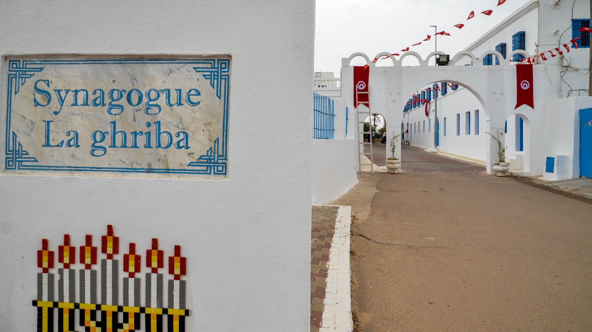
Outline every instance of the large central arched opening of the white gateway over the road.
<path id="1" fill-rule="evenodd" d="M 403 109 L 404 145 L 470 158 L 485 165 L 490 143 L 485 134 L 487 113 L 472 89 L 459 82 L 440 81 L 426 84 L 407 97 Z"/>

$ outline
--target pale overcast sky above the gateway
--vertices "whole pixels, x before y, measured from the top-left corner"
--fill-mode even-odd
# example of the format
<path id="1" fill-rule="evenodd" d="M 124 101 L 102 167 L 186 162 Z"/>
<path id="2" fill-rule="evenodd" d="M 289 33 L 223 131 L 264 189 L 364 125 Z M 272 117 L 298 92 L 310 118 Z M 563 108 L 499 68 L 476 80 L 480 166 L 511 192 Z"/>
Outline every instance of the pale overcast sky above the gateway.
<path id="1" fill-rule="evenodd" d="M 430 25 L 451 34 L 438 36 L 437 46 L 453 56 L 529 1 L 507 0 L 496 7 L 497 0 L 317 0 L 314 70 L 339 77 L 341 58 L 352 53 L 365 53 L 371 60 L 381 52 L 401 53 L 433 35 Z M 487 9 L 493 14 L 479 14 Z M 475 17 L 464 22 L 471 11 Z M 459 23 L 465 24 L 461 30 L 452 27 Z M 411 50 L 426 57 L 435 50 L 434 38 Z M 414 60 L 407 57 L 404 62 L 408 59 Z M 381 63 L 391 64 L 388 59 L 378 60 Z"/>

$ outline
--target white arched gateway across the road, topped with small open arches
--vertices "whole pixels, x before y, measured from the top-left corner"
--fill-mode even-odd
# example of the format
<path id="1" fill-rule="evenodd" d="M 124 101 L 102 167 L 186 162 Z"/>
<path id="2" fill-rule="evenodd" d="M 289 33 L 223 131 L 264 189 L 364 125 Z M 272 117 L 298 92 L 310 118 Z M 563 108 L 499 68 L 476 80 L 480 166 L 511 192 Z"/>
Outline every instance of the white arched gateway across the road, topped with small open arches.
<path id="1" fill-rule="evenodd" d="M 542 154 L 544 123 L 541 116 L 532 116 L 537 112 L 542 114 L 545 107 L 545 99 L 535 99 L 535 108 L 523 105 L 514 109 L 516 105 L 516 69 L 511 63 L 510 58 L 513 54 L 522 54 L 528 57 L 525 51 L 513 51 L 506 59 L 497 51 L 487 51 L 482 54 L 484 58 L 488 54 L 497 56 L 500 61 L 499 66 L 484 66 L 480 58 L 477 58 L 469 51 L 462 51 L 456 54 L 449 62 L 448 66 L 428 66 L 428 61 L 436 54 L 445 55 L 442 52 L 434 52 L 422 59 L 415 52 L 407 52 L 396 60 L 390 53 L 377 54 L 376 58 L 388 56 L 393 65 L 387 67 L 377 67 L 372 63 L 366 54 L 354 53 L 348 58 L 342 58 L 342 96 L 348 105 L 353 105 L 353 67 L 350 67 L 350 61 L 353 57 L 361 56 L 365 58 L 369 70 L 369 101 L 372 113 L 380 113 L 385 116 L 390 123 L 401 123 L 403 121 L 403 108 L 406 105 L 409 96 L 417 92 L 417 89 L 427 84 L 436 82 L 448 82 L 459 84 L 468 89 L 481 103 L 485 117 L 485 132 L 496 133 L 504 132 L 506 119 L 515 113 L 521 113 L 527 118 L 532 119 L 530 125 L 530 135 L 527 136 L 531 147 L 524 156 L 524 170 L 540 174 L 542 161 L 533 156 Z M 407 56 L 415 56 L 419 60 L 419 66 L 401 66 L 401 60 Z M 469 57 L 472 60 L 471 66 L 456 65 L 462 57 Z M 542 65 L 533 65 L 533 76 L 537 84 L 537 89 L 543 91 L 546 95 L 554 92 L 549 82 L 545 82 L 538 77 L 544 77 L 544 68 Z M 402 129 L 398 126 L 392 126 L 394 134 L 401 134 Z M 387 141 L 390 140 L 392 131 L 387 131 Z M 503 136 L 501 137 L 504 142 Z M 491 163 L 497 161 L 497 143 L 493 139 L 488 139 L 486 145 L 487 172 L 494 174 L 491 169 Z M 401 140 L 397 142 L 397 158 L 401 157 Z"/>

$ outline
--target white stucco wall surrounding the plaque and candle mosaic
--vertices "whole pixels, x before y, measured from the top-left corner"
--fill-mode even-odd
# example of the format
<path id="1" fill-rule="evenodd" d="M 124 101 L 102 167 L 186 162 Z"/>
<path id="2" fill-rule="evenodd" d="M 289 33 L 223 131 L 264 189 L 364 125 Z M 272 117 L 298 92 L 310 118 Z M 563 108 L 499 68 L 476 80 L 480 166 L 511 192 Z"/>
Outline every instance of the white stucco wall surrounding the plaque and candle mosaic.
<path id="1" fill-rule="evenodd" d="M 99 245 L 108 223 L 142 263 L 152 237 L 165 256 L 182 246 L 187 331 L 308 330 L 314 1 L 5 2 L 0 30 L 3 57 L 230 54 L 233 66 L 228 180 L 0 175 L 1 331 L 36 329 L 41 239 L 57 275 L 63 234 Z"/>

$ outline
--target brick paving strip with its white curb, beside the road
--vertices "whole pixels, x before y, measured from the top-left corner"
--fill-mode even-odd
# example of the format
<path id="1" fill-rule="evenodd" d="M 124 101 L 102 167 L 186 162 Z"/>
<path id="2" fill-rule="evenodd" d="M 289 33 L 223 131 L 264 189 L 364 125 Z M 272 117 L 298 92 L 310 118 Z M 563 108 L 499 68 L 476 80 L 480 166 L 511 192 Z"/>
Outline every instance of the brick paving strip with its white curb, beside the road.
<path id="1" fill-rule="evenodd" d="M 351 207 L 313 206 L 310 271 L 311 332 L 353 328 L 349 240 Z"/>

